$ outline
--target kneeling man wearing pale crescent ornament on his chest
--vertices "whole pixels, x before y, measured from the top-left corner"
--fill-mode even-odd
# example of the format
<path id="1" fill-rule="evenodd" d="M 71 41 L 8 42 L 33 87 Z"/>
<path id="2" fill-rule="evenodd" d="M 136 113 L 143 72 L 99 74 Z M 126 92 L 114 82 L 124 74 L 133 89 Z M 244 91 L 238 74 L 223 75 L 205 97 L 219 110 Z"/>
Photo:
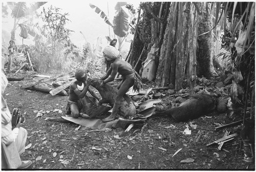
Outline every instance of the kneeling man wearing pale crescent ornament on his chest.
<path id="1" fill-rule="evenodd" d="M 68 113 L 71 112 L 73 118 L 78 118 L 80 115 L 84 118 L 90 118 L 86 114 L 80 114 L 83 103 L 82 98 L 86 96 L 87 91 L 99 100 L 99 97 L 96 93 L 89 87 L 91 84 L 91 79 L 87 79 L 87 74 L 83 70 L 77 70 L 75 73 L 76 81 L 70 84 L 69 88 L 69 102 L 68 102 Z"/>

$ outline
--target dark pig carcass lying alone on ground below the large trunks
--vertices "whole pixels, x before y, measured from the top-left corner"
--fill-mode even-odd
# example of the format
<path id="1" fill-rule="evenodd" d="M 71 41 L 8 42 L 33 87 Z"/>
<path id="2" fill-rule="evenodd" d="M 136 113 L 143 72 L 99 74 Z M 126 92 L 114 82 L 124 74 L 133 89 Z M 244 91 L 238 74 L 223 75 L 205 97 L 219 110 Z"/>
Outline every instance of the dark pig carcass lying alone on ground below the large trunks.
<path id="1" fill-rule="evenodd" d="M 176 121 L 186 122 L 214 111 L 215 102 L 215 96 L 200 93 L 190 96 L 188 100 L 181 103 L 178 107 L 172 107 L 171 109 L 155 113 L 159 115 L 171 116 Z"/>

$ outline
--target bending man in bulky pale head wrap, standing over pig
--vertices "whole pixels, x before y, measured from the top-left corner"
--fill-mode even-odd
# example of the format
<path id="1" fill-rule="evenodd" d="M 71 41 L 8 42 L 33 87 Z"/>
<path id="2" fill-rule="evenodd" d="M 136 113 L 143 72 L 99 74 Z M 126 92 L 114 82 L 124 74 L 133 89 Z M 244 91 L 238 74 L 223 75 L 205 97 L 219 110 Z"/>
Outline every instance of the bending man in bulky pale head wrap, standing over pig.
<path id="1" fill-rule="evenodd" d="M 105 83 L 111 82 L 115 79 L 117 72 L 122 76 L 122 81 L 119 83 L 117 89 L 118 92 L 115 97 L 115 103 L 113 111 L 109 117 L 102 119 L 103 122 L 112 121 L 118 119 L 118 109 L 120 107 L 121 99 L 123 95 L 134 85 L 135 81 L 138 81 L 138 74 L 130 65 L 130 63 L 118 59 L 118 53 L 111 47 L 106 47 L 103 51 L 105 60 L 110 62 L 110 69 L 106 72 L 106 75 L 101 78 L 101 86 Z M 141 82 L 140 82 L 141 84 Z M 137 84 L 136 84 L 137 85 Z"/>

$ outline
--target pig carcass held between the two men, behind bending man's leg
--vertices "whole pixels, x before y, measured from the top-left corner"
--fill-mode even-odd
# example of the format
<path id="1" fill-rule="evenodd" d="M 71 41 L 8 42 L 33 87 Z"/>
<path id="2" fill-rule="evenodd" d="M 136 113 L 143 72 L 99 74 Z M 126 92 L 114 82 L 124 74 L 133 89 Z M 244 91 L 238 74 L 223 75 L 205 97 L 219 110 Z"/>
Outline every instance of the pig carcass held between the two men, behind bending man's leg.
<path id="1" fill-rule="evenodd" d="M 112 87 L 110 84 L 106 83 L 102 87 L 100 87 L 100 83 L 102 80 L 93 78 L 91 85 L 96 90 L 99 91 L 99 94 L 101 95 L 102 99 L 99 101 L 100 103 L 109 103 L 112 107 L 114 106 L 115 102 L 115 96 L 117 94 L 117 88 Z M 127 118 L 129 116 L 134 116 L 137 113 L 136 106 L 131 99 L 131 97 L 124 95 L 124 98 L 122 98 L 120 102 L 119 107 L 119 115 Z"/>

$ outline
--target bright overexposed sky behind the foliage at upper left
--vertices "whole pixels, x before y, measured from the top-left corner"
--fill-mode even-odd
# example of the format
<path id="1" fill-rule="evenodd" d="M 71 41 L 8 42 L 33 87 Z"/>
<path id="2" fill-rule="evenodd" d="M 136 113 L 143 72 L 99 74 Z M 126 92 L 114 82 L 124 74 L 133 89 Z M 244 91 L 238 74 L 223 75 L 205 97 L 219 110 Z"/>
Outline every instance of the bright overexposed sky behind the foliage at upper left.
<path id="1" fill-rule="evenodd" d="M 4 5 L 6 5 L 7 1 L 3 1 Z M 8 1 L 9 2 L 9 1 Z M 16 1 L 15 1 L 16 2 Z M 28 7 L 30 6 L 30 3 L 33 1 L 26 1 Z M 34 1 L 35 2 L 35 1 Z M 99 14 L 97 14 L 92 9 L 89 4 L 93 4 L 100 8 L 102 11 L 105 12 L 106 15 L 109 13 L 109 18 L 111 23 L 113 23 L 113 18 L 115 16 L 115 5 L 118 1 L 81 1 L 81 0 L 75 0 L 75 1 L 48 1 L 44 6 L 46 9 L 48 7 L 55 6 L 58 8 L 61 8 L 60 11 L 63 13 L 69 13 L 69 18 L 71 22 L 69 22 L 66 25 L 66 28 L 73 30 L 71 37 L 71 41 L 78 47 L 81 46 L 82 42 L 84 41 L 84 38 L 80 34 L 80 31 L 84 34 L 87 41 L 90 42 L 91 45 L 95 45 L 97 38 L 100 36 L 103 41 L 103 45 L 108 45 L 108 41 L 106 40 L 105 36 L 109 36 L 109 25 L 104 22 L 104 20 L 100 17 Z M 139 1 L 129 1 L 127 4 L 133 4 L 135 8 L 139 6 Z M 37 12 L 40 13 L 42 11 L 42 7 L 40 7 Z M 109 10 L 108 10 L 109 7 Z M 136 10 L 137 11 L 137 10 Z M 9 9 L 9 16 L 8 18 L 2 18 L 2 44 L 9 44 L 10 40 L 10 32 L 14 25 L 14 18 L 11 17 L 11 10 Z M 136 16 L 137 17 L 137 16 Z M 16 30 L 15 38 L 16 45 L 22 44 L 22 38 L 19 36 L 20 29 L 18 28 Z M 9 36 L 9 39 L 8 39 Z M 110 27 L 110 37 L 114 38 L 113 29 Z M 132 39 L 133 35 L 130 35 L 127 37 L 127 39 Z M 4 40 L 3 40 L 4 39 Z M 24 39 L 24 44 L 32 44 L 31 42 L 32 36 L 30 36 L 30 39 Z M 124 48 L 127 47 L 130 48 L 130 43 L 125 43 Z"/>

